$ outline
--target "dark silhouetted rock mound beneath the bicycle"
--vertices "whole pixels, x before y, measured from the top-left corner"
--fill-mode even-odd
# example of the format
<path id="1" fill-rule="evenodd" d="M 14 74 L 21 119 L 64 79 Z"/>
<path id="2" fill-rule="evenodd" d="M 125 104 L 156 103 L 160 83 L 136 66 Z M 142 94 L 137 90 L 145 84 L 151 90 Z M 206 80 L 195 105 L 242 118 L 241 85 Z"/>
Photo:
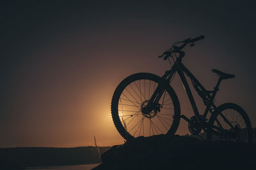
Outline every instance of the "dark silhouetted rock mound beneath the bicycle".
<path id="1" fill-rule="evenodd" d="M 193 137 L 138 137 L 102 154 L 101 169 L 256 169 L 256 146 Z"/>

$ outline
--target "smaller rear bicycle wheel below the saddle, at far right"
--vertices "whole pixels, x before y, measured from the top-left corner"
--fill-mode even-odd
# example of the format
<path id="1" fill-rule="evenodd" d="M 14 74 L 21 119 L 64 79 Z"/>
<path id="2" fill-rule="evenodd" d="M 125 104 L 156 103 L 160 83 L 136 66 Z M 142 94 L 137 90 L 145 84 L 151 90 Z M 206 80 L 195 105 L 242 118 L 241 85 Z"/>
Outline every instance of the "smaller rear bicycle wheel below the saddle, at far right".
<path id="1" fill-rule="evenodd" d="M 237 141 L 252 143 L 252 125 L 246 112 L 233 103 L 221 104 L 218 111 L 212 114 L 210 125 L 214 125 L 217 133 L 207 133 L 212 141 Z"/>

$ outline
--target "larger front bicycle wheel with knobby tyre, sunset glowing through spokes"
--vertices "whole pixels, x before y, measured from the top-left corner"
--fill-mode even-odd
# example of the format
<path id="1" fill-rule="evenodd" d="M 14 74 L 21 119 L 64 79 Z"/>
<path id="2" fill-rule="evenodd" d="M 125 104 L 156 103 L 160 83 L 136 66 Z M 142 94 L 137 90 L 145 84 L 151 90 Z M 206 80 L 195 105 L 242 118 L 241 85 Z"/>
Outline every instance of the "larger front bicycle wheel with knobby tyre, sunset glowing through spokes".
<path id="1" fill-rule="evenodd" d="M 138 136 L 174 134 L 180 120 L 180 104 L 170 84 L 165 85 L 157 110 L 143 113 L 160 81 L 150 73 L 132 74 L 116 87 L 111 101 L 111 114 L 116 129 L 129 140 Z"/>

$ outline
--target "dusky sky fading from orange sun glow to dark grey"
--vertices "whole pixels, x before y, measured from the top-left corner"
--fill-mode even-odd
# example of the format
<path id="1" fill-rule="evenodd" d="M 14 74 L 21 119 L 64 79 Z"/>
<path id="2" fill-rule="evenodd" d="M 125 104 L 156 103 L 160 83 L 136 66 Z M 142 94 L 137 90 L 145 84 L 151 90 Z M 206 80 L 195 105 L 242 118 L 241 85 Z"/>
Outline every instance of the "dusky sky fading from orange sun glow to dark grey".
<path id="1" fill-rule="evenodd" d="M 118 83 L 138 72 L 161 76 L 170 64 L 157 56 L 202 34 L 184 65 L 208 90 L 218 80 L 211 69 L 236 74 L 221 83 L 216 105 L 239 104 L 255 127 L 255 4 L 182 2 L 1 3 L 0 147 L 87 146 L 93 135 L 100 146 L 123 143 L 110 112 Z M 172 86 L 191 117 L 177 76 Z M 187 127 L 181 120 L 177 133 Z"/>

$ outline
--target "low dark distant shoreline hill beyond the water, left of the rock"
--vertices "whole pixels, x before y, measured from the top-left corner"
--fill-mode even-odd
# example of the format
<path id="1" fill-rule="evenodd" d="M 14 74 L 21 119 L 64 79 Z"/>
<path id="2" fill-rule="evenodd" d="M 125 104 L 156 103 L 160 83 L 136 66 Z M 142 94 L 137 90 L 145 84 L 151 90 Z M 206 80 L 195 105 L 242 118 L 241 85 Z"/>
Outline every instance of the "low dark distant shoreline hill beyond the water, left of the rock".
<path id="1" fill-rule="evenodd" d="M 110 147 L 99 148 L 100 153 L 104 153 Z M 99 162 L 99 153 L 94 146 L 0 148 L 0 169 L 24 169 L 26 167 L 94 164 Z"/>

